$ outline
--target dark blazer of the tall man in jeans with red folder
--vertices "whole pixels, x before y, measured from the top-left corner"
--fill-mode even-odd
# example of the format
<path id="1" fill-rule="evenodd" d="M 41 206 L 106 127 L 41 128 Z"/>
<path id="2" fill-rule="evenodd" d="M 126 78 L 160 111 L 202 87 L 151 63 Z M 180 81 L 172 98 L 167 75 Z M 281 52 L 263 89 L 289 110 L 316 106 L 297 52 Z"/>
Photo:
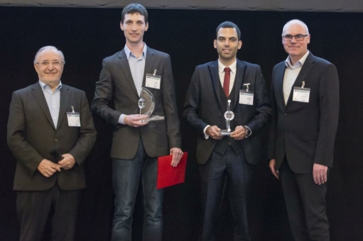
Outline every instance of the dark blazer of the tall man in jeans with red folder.
<path id="1" fill-rule="evenodd" d="M 94 115 L 114 127 L 111 157 L 132 159 L 136 155 L 140 138 L 149 157 L 169 155 L 170 148 L 181 148 L 180 124 L 175 101 L 175 87 L 170 57 L 164 52 L 147 47 L 143 84 L 146 74 L 161 75 L 161 88 L 148 88 L 155 99 L 153 116 L 165 116 L 165 120 L 151 121 L 141 128 L 119 125 L 121 114 L 139 113 L 139 95 L 131 75 L 129 61 L 124 50 L 106 57 L 96 83 L 91 109 Z M 114 102 L 114 107 L 109 103 Z"/>

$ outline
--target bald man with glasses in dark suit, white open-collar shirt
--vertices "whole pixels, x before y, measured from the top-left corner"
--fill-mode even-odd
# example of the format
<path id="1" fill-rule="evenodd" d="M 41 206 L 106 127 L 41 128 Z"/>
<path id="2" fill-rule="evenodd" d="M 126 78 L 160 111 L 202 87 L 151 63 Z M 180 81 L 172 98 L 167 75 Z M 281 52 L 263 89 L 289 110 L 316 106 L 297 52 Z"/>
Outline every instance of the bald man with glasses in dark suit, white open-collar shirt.
<path id="1" fill-rule="evenodd" d="M 269 159 L 281 179 L 295 240 L 330 240 L 325 214 L 328 169 L 337 132 L 337 69 L 308 51 L 308 27 L 286 23 L 286 61 L 273 68 Z"/>

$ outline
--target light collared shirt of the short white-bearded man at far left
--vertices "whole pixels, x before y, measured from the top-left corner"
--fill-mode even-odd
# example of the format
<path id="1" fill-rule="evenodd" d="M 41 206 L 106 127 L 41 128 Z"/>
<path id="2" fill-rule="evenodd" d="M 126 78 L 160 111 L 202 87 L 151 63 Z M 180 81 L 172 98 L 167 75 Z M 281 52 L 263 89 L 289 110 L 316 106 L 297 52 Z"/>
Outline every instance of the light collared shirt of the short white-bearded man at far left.
<path id="1" fill-rule="evenodd" d="M 52 120 L 55 128 L 57 128 L 59 110 L 60 110 L 60 89 L 62 89 L 62 82 L 59 82 L 58 86 L 55 88 L 54 92 L 44 82 L 39 80 L 40 87 L 43 90 L 43 94 L 45 97 L 45 101 L 47 101 L 50 116 L 52 116 Z"/>

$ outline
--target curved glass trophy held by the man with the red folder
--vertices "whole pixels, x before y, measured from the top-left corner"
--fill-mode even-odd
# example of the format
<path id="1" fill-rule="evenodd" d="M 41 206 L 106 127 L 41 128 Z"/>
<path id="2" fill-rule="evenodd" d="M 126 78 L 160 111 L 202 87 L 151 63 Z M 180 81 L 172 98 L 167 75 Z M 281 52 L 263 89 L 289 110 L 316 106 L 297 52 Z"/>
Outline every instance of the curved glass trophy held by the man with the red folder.
<path id="1" fill-rule="evenodd" d="M 140 122 L 148 122 L 151 120 L 160 120 L 159 116 L 151 116 L 153 110 L 155 108 L 155 99 L 153 98 L 153 94 L 148 89 L 142 87 L 140 99 L 139 99 L 139 109 L 140 115 L 150 116 L 144 120 L 140 120 Z"/>

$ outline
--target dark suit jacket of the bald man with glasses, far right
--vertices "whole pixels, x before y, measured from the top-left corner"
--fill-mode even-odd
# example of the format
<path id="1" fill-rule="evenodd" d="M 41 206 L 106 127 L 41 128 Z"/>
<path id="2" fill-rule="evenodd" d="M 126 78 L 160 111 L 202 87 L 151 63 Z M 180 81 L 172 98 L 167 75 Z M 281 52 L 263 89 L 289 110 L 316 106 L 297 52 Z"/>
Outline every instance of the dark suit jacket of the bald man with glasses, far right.
<path id="1" fill-rule="evenodd" d="M 286 154 L 293 172 L 313 172 L 313 163 L 332 167 L 332 154 L 339 116 L 339 81 L 337 69 L 311 52 L 294 86 L 310 88 L 309 103 L 283 99 L 285 61 L 273 68 L 271 96 L 272 123 L 269 159 L 276 159 L 276 169 Z"/>

